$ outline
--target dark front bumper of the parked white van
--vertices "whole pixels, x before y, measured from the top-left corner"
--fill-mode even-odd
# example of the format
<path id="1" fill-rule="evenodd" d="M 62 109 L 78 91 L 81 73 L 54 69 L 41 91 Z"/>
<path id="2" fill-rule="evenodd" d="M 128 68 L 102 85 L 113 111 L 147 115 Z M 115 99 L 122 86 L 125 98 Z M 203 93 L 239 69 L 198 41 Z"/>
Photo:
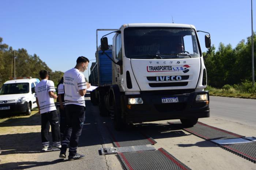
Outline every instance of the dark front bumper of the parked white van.
<path id="1" fill-rule="evenodd" d="M 0 110 L 0 113 L 23 113 L 27 111 L 27 102 L 1 103 L 1 107 L 10 107 L 10 109 Z"/>

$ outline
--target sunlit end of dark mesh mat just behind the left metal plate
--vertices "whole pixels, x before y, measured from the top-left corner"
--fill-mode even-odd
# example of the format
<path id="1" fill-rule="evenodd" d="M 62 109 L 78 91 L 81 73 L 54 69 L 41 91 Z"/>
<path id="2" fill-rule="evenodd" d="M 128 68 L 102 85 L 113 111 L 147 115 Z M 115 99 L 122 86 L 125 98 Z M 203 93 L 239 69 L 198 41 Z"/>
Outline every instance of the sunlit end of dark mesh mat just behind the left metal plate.
<path id="1" fill-rule="evenodd" d="M 153 138 L 140 139 L 134 141 L 114 141 L 114 147 L 137 146 L 137 145 L 154 145 L 157 143 Z"/>

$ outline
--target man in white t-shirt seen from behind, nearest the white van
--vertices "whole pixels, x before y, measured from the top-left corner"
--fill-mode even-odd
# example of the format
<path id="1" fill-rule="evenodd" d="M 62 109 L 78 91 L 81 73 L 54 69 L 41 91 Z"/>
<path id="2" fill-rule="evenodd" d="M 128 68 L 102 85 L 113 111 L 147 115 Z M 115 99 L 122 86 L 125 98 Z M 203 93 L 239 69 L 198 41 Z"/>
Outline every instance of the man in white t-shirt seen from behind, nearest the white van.
<path id="1" fill-rule="evenodd" d="M 57 95 L 54 94 L 54 83 L 49 79 L 48 71 L 41 70 L 39 72 L 42 79 L 35 86 L 35 97 L 39 113 L 41 114 L 41 137 L 42 137 L 42 151 L 47 150 L 60 150 L 60 125 L 59 117 L 57 115 L 54 99 Z M 53 147 L 49 145 L 49 130 L 52 127 L 52 143 Z"/>

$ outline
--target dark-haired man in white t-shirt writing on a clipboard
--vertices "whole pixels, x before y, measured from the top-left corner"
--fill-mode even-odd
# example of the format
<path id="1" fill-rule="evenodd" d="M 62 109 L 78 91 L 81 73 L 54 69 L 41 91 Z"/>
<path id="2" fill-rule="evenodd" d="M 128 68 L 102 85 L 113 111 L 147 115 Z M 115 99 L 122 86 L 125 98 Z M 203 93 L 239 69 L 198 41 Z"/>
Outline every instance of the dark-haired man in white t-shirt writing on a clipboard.
<path id="1" fill-rule="evenodd" d="M 79 136 L 82 133 L 85 120 L 85 100 L 86 89 L 91 84 L 85 82 L 84 72 L 89 64 L 89 60 L 84 56 L 78 57 L 75 68 L 64 73 L 64 100 L 66 111 L 67 129 L 61 141 L 60 158 L 66 157 L 69 143 L 68 160 L 82 159 L 84 155 L 76 153 Z M 70 141 L 70 142 L 69 142 Z"/>

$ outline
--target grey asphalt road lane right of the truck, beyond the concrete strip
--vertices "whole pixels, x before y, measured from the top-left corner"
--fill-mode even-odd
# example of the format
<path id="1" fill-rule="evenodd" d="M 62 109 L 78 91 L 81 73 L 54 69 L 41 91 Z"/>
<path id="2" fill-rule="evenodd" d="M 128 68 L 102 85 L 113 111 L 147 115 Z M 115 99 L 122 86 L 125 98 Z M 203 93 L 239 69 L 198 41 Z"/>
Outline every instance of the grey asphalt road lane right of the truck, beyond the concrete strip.
<path id="1" fill-rule="evenodd" d="M 256 127 L 256 100 L 210 96 L 210 114 Z"/>

